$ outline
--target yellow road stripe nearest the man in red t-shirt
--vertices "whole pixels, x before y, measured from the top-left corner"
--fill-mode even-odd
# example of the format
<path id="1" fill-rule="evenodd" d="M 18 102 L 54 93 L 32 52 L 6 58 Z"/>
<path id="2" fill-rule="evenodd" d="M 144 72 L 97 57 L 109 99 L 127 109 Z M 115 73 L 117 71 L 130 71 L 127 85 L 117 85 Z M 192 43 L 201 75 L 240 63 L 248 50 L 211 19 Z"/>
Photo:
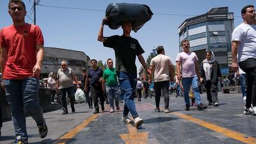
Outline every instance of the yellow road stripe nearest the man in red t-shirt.
<path id="1" fill-rule="evenodd" d="M 61 138 L 59 140 L 56 141 L 56 143 L 59 144 L 64 144 L 66 143 L 68 140 L 70 140 L 71 138 L 73 138 L 77 133 L 79 133 L 79 131 L 81 131 L 84 127 L 86 127 L 88 124 L 90 124 L 90 122 L 92 122 L 92 120 L 94 120 L 95 118 L 97 118 L 99 116 L 98 114 L 92 115 L 92 117 L 89 117 L 88 119 L 84 120 L 84 122 L 82 122 L 81 124 L 79 124 L 78 126 L 74 127 L 71 131 L 69 131 L 68 133 L 64 134 L 63 136 L 61 136 Z M 59 142 L 58 142 L 59 141 Z M 61 141 L 61 142 L 60 142 Z"/>

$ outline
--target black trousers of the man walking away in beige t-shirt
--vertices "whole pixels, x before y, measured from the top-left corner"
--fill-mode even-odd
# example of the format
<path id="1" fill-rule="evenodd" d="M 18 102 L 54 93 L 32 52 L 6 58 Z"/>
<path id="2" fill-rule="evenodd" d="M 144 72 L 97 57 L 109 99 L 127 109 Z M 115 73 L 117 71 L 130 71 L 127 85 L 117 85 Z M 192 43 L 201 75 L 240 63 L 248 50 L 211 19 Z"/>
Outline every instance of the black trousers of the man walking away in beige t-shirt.
<path id="1" fill-rule="evenodd" d="M 161 82 L 154 82 L 154 90 L 156 92 L 156 107 L 159 108 L 160 103 L 160 97 L 161 97 L 161 91 L 163 91 L 163 97 L 164 97 L 164 109 L 169 108 L 169 81 L 161 81 Z"/>

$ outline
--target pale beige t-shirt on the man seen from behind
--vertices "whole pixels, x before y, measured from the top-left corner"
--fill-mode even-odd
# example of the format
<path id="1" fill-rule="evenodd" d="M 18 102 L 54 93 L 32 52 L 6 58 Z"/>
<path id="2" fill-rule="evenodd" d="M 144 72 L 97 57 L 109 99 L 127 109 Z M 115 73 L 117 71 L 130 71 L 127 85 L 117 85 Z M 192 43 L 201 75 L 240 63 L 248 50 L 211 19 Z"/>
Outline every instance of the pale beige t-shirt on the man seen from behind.
<path id="1" fill-rule="evenodd" d="M 154 66 L 154 82 L 170 80 L 169 66 L 172 65 L 172 59 L 163 54 L 151 59 L 150 66 Z"/>

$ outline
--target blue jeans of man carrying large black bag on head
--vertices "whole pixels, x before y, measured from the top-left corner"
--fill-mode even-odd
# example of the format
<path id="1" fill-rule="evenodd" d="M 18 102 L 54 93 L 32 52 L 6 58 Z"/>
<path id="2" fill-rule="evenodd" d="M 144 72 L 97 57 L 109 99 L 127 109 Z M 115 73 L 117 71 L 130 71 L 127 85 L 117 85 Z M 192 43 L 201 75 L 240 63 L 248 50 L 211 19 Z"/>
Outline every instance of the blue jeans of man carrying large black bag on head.
<path id="1" fill-rule="evenodd" d="M 117 75 L 122 91 L 122 98 L 125 101 L 123 115 L 128 115 L 128 113 L 131 112 L 132 117 L 136 118 L 138 117 L 138 113 L 135 107 L 134 96 L 137 85 L 137 75 L 124 71 L 120 71 Z"/>

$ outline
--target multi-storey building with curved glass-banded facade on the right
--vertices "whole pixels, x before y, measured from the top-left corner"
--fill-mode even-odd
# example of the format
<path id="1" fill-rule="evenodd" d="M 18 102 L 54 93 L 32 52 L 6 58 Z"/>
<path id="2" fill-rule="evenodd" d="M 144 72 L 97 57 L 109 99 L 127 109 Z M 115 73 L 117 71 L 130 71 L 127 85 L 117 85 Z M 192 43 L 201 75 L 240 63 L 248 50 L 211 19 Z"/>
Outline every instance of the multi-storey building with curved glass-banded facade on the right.
<path id="1" fill-rule="evenodd" d="M 179 44 L 189 40 L 190 50 L 195 52 L 199 65 L 205 59 L 205 52 L 211 50 L 220 63 L 221 73 L 227 74 L 232 64 L 231 36 L 234 30 L 234 15 L 228 7 L 212 8 L 204 15 L 186 19 L 179 26 Z M 180 45 L 179 51 L 182 52 Z"/>

